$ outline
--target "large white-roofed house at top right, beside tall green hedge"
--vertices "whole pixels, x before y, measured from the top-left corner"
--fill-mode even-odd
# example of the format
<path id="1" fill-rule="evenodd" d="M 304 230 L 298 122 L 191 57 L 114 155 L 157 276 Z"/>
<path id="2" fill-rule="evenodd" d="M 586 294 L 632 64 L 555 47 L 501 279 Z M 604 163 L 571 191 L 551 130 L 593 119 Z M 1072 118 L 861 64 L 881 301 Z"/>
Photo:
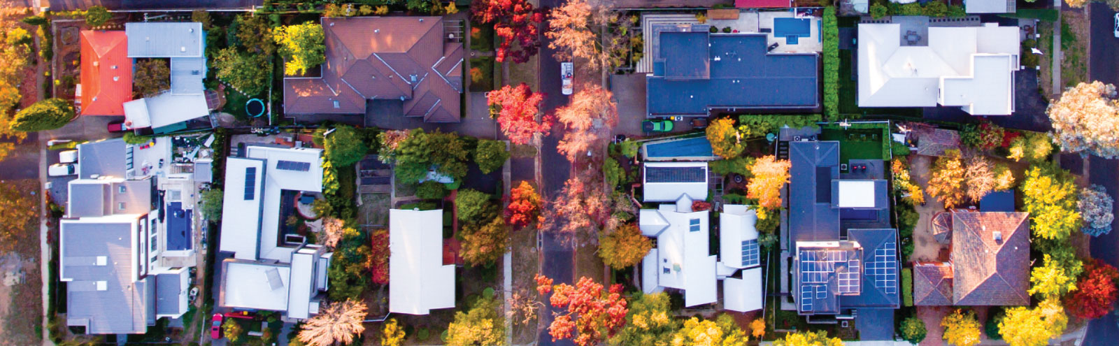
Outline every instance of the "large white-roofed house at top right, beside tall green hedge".
<path id="1" fill-rule="evenodd" d="M 1018 27 L 934 25 L 858 25 L 858 106 L 1014 113 Z"/>

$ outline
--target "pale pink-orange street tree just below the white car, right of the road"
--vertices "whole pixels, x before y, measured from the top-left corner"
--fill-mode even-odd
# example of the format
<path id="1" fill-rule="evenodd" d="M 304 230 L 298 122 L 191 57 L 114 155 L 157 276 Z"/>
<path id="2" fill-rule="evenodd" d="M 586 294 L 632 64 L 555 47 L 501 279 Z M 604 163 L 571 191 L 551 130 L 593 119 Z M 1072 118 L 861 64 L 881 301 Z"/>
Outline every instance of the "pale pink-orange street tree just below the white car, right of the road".
<path id="1" fill-rule="evenodd" d="M 556 120 L 567 131 L 556 146 L 556 150 L 574 162 L 586 157 L 591 148 L 599 148 L 618 124 L 618 104 L 613 94 L 599 85 L 583 88 L 571 96 L 571 103 L 556 109 Z"/>

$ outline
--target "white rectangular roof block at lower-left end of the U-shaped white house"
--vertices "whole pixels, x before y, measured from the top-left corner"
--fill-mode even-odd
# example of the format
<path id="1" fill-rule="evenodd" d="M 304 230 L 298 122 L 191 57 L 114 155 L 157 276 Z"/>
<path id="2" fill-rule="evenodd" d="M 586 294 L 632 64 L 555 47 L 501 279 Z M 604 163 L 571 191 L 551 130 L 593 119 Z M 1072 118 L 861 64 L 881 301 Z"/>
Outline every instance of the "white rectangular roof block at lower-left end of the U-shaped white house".
<path id="1" fill-rule="evenodd" d="M 222 275 L 224 306 L 273 311 L 288 309 L 291 268 L 226 261 Z"/>

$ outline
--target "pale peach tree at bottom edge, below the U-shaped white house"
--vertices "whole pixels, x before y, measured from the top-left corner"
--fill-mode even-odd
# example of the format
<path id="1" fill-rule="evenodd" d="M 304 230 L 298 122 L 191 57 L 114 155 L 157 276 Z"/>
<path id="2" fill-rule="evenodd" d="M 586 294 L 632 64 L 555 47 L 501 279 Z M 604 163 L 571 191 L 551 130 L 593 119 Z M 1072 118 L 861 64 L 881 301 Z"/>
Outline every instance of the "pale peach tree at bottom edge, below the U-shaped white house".
<path id="1" fill-rule="evenodd" d="M 346 300 L 328 302 L 316 315 L 303 324 L 299 339 L 309 346 L 347 345 L 354 342 L 354 336 L 361 334 L 365 326 L 365 302 Z"/>

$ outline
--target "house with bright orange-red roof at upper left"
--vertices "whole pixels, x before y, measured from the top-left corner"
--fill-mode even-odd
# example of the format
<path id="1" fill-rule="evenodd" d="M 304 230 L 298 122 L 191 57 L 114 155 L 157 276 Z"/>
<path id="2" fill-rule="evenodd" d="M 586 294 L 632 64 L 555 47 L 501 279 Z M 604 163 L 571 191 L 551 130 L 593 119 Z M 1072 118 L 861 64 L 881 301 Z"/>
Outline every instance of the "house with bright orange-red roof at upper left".
<path id="1" fill-rule="evenodd" d="M 124 115 L 132 100 L 132 59 L 124 31 L 82 31 L 82 115 Z"/>

